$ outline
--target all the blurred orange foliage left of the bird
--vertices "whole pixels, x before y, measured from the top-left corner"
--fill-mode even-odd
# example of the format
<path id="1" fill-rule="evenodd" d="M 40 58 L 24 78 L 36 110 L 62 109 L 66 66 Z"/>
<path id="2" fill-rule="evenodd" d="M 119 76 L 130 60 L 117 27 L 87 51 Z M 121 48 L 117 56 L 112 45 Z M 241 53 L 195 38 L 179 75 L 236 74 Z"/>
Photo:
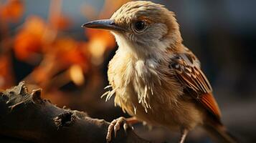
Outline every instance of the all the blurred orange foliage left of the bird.
<path id="1" fill-rule="evenodd" d="M 28 64 L 37 64 L 24 80 L 45 89 L 49 88 L 49 91 L 56 90 L 68 82 L 81 86 L 85 83 L 85 74 L 92 74 L 90 71 L 98 72 L 96 67 L 102 66 L 105 52 L 115 47 L 115 39 L 109 31 L 86 29 L 85 36 L 88 41 L 78 41 L 65 34 L 63 30 L 70 28 L 72 21 L 70 17 L 62 14 L 62 2 L 51 0 L 47 20 L 29 15 L 14 37 L 10 37 L 10 41 L 14 42 L 11 45 L 16 58 Z M 119 1 L 115 6 L 122 2 Z M 87 6 L 91 9 L 83 12 L 89 13 L 85 14 L 87 16 L 99 18 L 107 14 L 108 6 L 112 7 L 105 4 L 103 11 L 98 12 Z M 24 11 L 22 0 L 7 1 L 6 4 L 0 5 L 0 8 L 4 8 L 0 9 L 4 19 L 18 19 Z M 6 73 L 8 72 L 0 75 Z"/>

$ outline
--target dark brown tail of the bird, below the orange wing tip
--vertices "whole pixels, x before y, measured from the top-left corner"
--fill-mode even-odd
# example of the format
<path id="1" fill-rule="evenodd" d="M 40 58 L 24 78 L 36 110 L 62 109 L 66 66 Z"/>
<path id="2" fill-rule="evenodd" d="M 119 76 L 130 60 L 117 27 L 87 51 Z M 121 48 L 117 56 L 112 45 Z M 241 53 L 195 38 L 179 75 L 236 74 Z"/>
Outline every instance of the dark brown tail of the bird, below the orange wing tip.
<path id="1" fill-rule="evenodd" d="M 204 129 L 206 129 L 209 135 L 217 142 L 238 143 L 237 139 L 227 132 L 226 127 L 222 124 L 204 124 Z"/>

